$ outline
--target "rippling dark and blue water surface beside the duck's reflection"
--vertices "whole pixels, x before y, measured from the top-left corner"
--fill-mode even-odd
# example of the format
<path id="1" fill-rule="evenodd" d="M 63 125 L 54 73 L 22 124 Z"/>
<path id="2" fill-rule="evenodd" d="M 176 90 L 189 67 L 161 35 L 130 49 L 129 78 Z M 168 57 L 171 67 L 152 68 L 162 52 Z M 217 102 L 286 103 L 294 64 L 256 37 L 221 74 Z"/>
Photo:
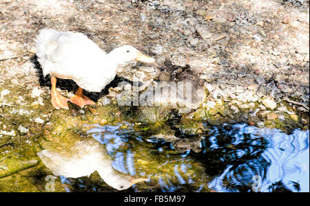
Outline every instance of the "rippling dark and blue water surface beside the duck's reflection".
<path id="1" fill-rule="evenodd" d="M 148 179 L 131 192 L 309 192 L 309 131 L 236 124 L 205 126 L 192 137 L 177 133 L 182 138 L 158 138 L 156 130 L 129 123 L 87 131 L 114 170 Z M 89 180 L 62 177 L 68 191 L 114 191 Z"/>

